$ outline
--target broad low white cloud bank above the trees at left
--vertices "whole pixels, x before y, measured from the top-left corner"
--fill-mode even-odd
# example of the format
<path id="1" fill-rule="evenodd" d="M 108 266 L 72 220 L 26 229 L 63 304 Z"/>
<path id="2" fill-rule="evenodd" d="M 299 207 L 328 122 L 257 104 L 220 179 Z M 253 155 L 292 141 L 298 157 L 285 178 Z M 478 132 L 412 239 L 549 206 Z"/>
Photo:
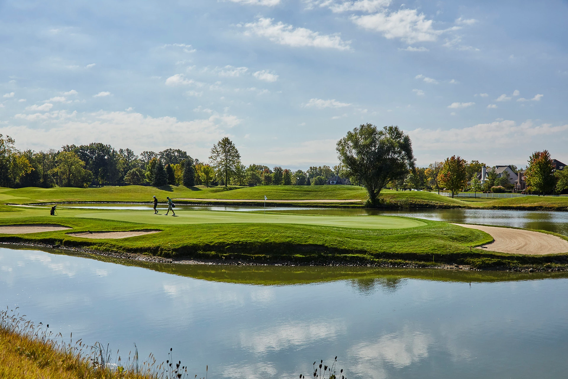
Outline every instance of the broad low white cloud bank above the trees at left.
<path id="1" fill-rule="evenodd" d="M 45 104 L 44 104 L 45 106 Z M 69 144 L 90 143 L 92 136 L 106 144 L 121 141 L 135 151 L 171 147 L 195 149 L 196 155 L 208 155 L 211 144 L 227 136 L 227 130 L 241 122 L 237 116 L 213 113 L 203 119 L 180 121 L 175 117 L 144 116 L 140 113 L 107 112 L 66 114 L 51 113 L 37 116 L 37 125 L 0 127 L 22 148 L 45 149 Z M 157 133 L 156 131 L 160 132 Z"/>

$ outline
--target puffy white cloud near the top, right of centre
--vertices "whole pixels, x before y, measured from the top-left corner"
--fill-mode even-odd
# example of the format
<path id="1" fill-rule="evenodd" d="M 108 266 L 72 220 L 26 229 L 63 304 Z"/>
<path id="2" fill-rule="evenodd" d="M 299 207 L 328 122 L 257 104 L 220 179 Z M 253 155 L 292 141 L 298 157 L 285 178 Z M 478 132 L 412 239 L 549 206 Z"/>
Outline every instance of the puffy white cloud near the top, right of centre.
<path id="1" fill-rule="evenodd" d="M 435 41 L 443 31 L 432 27 L 433 20 L 426 19 L 416 9 L 401 9 L 396 12 L 383 11 L 373 15 L 352 16 L 358 26 L 381 32 L 387 39 L 399 38 L 407 43 Z"/>

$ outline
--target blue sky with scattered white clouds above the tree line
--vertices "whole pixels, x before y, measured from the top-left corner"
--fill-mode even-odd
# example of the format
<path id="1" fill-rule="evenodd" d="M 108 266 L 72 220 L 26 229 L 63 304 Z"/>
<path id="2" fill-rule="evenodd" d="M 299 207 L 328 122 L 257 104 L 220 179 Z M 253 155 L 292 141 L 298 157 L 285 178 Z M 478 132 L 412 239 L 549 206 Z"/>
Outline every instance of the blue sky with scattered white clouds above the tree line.
<path id="1" fill-rule="evenodd" d="M 364 123 L 416 164 L 568 162 L 568 2 L 0 0 L 0 133 L 335 165 Z"/>

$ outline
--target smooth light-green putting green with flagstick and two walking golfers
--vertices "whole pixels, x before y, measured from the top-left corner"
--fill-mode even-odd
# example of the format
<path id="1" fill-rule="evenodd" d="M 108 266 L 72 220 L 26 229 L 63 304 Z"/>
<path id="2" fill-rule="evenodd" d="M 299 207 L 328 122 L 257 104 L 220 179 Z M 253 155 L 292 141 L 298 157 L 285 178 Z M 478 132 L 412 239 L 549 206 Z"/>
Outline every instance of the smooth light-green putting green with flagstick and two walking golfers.
<path id="1" fill-rule="evenodd" d="M 176 217 L 151 211 L 96 211 L 77 213 L 80 218 L 98 218 L 143 224 L 218 224 L 218 223 L 274 223 L 336 226 L 358 229 L 400 229 L 425 225 L 420 220 L 396 216 L 323 216 L 262 214 L 223 211 L 178 211 Z"/>

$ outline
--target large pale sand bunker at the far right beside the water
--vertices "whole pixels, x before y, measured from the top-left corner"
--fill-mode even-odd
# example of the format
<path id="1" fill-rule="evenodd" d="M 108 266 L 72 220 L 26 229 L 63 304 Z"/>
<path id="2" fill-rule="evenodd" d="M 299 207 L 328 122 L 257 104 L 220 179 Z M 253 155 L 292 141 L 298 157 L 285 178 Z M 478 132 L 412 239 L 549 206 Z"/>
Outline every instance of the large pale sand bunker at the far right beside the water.
<path id="1" fill-rule="evenodd" d="M 454 224 L 466 228 L 478 229 L 490 234 L 495 240 L 483 245 L 490 251 L 512 254 L 560 254 L 568 252 L 568 241 L 550 234 L 528 230 L 498 228 L 470 224 Z"/>

